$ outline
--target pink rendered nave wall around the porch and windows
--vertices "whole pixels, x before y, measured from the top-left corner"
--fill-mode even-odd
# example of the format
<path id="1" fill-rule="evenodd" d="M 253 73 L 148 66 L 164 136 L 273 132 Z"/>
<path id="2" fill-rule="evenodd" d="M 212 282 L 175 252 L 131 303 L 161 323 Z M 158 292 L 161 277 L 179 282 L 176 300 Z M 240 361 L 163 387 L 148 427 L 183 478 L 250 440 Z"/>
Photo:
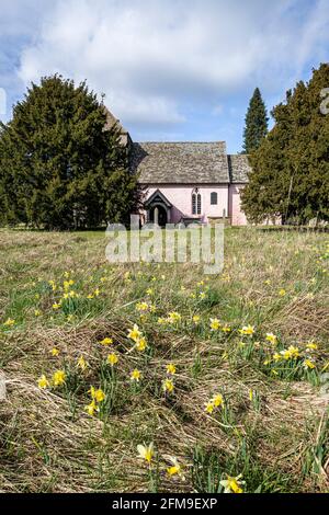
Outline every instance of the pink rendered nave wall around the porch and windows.
<path id="1" fill-rule="evenodd" d="M 223 217 L 225 209 L 226 216 L 228 216 L 228 186 L 218 184 L 206 184 L 200 186 L 188 186 L 179 184 L 159 184 L 152 185 L 147 190 L 145 199 L 149 198 L 157 190 L 168 198 L 172 204 L 171 209 L 171 224 L 178 224 L 182 216 L 192 217 L 192 192 L 195 187 L 198 187 L 198 193 L 202 196 L 201 217 L 204 222 L 207 222 L 207 217 Z M 211 193 L 217 193 L 217 205 L 211 205 Z M 200 216 L 195 216 L 200 218 Z"/>

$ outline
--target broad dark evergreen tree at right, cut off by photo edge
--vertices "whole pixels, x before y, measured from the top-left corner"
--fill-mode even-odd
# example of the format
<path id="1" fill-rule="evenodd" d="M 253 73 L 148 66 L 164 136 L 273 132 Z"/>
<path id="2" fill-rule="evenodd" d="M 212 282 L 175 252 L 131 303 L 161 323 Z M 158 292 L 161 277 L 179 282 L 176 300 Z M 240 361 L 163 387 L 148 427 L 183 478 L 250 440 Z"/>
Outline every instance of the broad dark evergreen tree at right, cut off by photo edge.
<path id="1" fill-rule="evenodd" d="M 298 224 L 329 219 L 329 115 L 320 111 L 328 84 L 326 64 L 273 110 L 274 128 L 250 156 L 252 172 L 242 194 L 250 221 L 274 216 Z"/>

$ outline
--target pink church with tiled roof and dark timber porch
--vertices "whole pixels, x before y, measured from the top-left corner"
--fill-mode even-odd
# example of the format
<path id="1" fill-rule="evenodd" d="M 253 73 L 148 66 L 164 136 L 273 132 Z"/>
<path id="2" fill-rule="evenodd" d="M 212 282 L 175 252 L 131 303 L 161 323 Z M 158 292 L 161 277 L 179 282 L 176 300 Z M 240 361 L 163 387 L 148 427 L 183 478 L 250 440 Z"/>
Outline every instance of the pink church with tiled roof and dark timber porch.
<path id="1" fill-rule="evenodd" d="M 224 141 L 137 144 L 107 113 L 107 125 L 114 124 L 129 148 L 131 168 L 144 193 L 141 225 L 215 220 L 247 225 L 240 206 L 250 172 L 247 156 L 227 154 Z"/>

